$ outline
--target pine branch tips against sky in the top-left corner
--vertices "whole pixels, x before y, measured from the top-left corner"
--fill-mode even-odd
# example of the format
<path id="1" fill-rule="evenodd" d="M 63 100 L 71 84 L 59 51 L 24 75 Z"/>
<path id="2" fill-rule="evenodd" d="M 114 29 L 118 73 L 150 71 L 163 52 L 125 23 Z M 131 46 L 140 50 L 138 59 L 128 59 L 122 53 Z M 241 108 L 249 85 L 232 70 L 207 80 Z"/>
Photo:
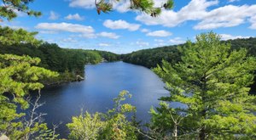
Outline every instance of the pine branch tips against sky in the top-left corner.
<path id="1" fill-rule="evenodd" d="M 3 0 L 0 6 L 0 16 L 12 20 L 17 17 L 17 11 L 31 16 L 40 16 L 41 12 L 28 8 L 28 4 L 32 2 L 33 0 Z"/>

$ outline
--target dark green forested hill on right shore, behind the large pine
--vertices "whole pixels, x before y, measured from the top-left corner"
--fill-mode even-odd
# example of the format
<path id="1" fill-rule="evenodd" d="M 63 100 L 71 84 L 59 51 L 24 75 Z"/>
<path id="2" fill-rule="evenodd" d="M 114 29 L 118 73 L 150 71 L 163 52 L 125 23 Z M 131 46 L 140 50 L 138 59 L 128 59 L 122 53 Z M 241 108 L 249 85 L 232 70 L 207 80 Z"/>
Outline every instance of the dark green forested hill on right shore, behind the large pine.
<path id="1" fill-rule="evenodd" d="M 248 55 L 256 57 L 256 37 L 228 40 L 222 42 L 230 43 L 232 49 L 247 48 Z M 184 44 L 166 46 L 162 48 L 144 49 L 137 52 L 123 54 L 120 57 L 124 62 L 127 63 L 139 64 L 148 68 L 154 68 L 157 66 L 157 64 L 161 64 L 162 59 L 165 59 L 172 64 L 177 63 L 180 60 L 180 53 L 177 51 L 177 46 L 183 45 Z M 252 88 L 253 91 L 256 92 L 256 82 L 254 82 Z"/>

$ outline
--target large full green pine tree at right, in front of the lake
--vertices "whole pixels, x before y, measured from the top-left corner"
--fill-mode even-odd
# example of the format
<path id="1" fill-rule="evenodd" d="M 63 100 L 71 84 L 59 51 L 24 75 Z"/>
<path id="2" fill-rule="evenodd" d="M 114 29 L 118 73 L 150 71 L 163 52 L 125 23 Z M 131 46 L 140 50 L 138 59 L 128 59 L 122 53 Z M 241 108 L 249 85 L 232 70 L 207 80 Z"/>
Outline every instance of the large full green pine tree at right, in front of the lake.
<path id="1" fill-rule="evenodd" d="M 221 43 L 212 32 L 178 49 L 179 63 L 163 61 L 154 72 L 170 91 L 170 96 L 160 99 L 186 105 L 175 109 L 185 115 L 180 124 L 183 131 L 201 140 L 255 138 L 256 102 L 255 96 L 248 95 L 248 86 L 253 83 L 256 59 L 247 57 L 244 48 L 231 51 L 230 44 Z"/>

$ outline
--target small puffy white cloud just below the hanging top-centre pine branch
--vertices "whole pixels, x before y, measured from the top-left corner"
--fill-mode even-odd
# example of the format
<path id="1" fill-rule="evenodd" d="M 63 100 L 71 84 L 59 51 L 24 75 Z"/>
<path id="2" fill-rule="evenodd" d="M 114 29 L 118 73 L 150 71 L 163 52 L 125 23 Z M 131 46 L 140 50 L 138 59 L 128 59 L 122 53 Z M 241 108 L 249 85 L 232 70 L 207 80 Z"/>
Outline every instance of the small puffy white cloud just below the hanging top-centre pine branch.
<path id="1" fill-rule="evenodd" d="M 130 24 L 125 20 L 105 20 L 103 23 L 107 28 L 116 30 L 116 29 L 127 29 L 129 31 L 137 31 L 141 25 Z"/>

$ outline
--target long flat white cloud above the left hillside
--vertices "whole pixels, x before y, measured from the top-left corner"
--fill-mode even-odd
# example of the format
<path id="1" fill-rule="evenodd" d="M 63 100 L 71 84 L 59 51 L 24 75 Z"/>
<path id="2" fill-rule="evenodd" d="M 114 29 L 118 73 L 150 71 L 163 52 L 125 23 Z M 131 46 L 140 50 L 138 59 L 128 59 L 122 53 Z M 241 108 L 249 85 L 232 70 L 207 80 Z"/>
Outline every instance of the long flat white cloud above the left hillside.
<path id="1" fill-rule="evenodd" d="M 39 23 L 35 26 L 37 29 L 48 30 L 48 31 L 67 31 L 67 32 L 76 32 L 91 34 L 94 32 L 94 29 L 91 26 L 79 25 L 79 24 L 70 24 L 66 22 L 62 23 Z"/>

